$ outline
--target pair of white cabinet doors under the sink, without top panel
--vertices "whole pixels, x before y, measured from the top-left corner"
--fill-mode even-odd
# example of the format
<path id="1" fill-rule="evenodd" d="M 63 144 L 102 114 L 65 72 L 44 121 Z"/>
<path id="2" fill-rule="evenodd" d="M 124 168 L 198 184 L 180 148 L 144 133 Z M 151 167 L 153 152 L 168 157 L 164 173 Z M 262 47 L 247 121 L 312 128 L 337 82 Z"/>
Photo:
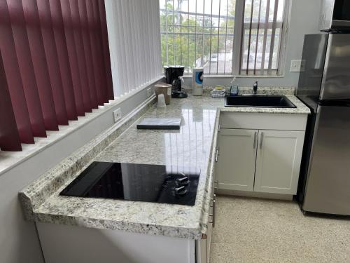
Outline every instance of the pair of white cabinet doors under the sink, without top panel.
<path id="1" fill-rule="evenodd" d="M 297 192 L 304 131 L 221 128 L 216 181 L 219 190 Z"/>

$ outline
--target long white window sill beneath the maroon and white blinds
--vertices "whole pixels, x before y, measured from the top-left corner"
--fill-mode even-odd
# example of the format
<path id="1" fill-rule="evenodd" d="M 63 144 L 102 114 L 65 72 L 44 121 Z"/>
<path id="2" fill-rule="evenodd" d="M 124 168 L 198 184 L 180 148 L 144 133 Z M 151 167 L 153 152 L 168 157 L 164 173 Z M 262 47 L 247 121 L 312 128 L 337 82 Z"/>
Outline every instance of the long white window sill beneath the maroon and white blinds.
<path id="1" fill-rule="evenodd" d="M 105 103 L 104 106 L 99 106 L 98 109 L 92 109 L 92 112 L 85 113 L 85 116 L 79 116 L 78 121 L 69 121 L 68 126 L 59 126 L 58 131 L 47 131 L 47 137 L 34 137 L 35 144 L 22 144 L 22 151 L 0 151 L 0 175 L 6 173 L 11 168 L 18 166 L 18 164 L 30 159 L 32 156 L 40 153 L 44 149 L 50 147 L 50 145 L 63 140 L 64 137 L 82 128 L 90 123 L 92 120 L 97 119 L 102 114 L 108 112 L 110 109 L 116 108 L 121 102 L 128 100 L 130 97 L 141 92 L 153 83 L 160 81 L 163 76 L 149 81 L 137 89 L 131 90 L 126 95 L 115 97 L 114 100 L 110 100 L 109 103 Z M 57 162 L 60 160 L 57 160 Z"/>

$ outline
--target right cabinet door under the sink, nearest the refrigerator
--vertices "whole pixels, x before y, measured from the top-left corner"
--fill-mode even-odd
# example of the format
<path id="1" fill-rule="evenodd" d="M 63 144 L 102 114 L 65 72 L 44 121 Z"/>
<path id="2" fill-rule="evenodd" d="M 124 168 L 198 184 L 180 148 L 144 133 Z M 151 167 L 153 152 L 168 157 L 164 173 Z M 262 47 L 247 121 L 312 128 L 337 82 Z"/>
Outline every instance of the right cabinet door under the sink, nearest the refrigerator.
<path id="1" fill-rule="evenodd" d="M 303 131 L 260 130 L 254 191 L 296 194 Z"/>

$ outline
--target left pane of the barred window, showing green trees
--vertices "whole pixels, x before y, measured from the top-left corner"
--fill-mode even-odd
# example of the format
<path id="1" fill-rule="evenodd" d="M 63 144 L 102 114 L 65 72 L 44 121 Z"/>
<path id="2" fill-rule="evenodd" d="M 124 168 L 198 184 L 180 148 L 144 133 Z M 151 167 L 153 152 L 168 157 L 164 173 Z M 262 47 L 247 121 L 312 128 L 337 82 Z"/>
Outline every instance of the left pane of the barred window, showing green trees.
<path id="1" fill-rule="evenodd" d="M 235 0 L 160 0 L 163 65 L 232 74 Z"/>

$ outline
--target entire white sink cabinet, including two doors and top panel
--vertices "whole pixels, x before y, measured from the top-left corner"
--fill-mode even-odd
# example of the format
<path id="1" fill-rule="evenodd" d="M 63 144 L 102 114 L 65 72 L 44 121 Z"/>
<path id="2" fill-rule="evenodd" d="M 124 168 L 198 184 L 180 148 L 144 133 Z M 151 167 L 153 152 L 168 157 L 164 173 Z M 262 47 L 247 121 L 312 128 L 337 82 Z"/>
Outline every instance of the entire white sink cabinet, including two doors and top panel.
<path id="1" fill-rule="evenodd" d="M 306 114 L 222 113 L 219 192 L 277 198 L 296 194 L 306 123 Z"/>

